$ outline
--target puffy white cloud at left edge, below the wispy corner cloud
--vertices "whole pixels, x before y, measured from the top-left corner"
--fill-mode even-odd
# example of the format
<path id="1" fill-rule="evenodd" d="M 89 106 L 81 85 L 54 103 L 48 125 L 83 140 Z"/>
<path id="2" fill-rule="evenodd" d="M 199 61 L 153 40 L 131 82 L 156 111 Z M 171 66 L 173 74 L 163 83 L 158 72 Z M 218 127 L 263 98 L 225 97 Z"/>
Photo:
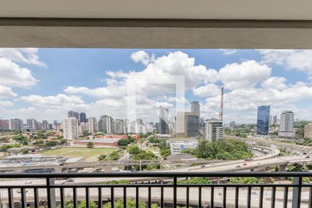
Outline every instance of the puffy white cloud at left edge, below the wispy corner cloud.
<path id="1" fill-rule="evenodd" d="M 19 67 L 7 58 L 0 58 L 0 74 L 1 85 L 30 88 L 37 83 L 29 69 Z"/>

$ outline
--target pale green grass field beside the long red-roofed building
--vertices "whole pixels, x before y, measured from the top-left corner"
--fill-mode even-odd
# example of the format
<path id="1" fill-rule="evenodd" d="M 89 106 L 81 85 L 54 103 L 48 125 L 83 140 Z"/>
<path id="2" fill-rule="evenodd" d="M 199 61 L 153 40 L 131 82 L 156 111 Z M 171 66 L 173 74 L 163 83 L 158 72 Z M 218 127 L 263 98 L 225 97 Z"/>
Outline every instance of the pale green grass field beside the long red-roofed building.
<path id="1" fill-rule="evenodd" d="M 53 155 L 62 155 L 66 157 L 85 157 L 86 161 L 96 161 L 98 160 L 98 155 L 103 153 L 110 154 L 116 148 L 60 148 L 55 150 L 46 150 L 40 152 L 40 155 L 53 156 Z"/>

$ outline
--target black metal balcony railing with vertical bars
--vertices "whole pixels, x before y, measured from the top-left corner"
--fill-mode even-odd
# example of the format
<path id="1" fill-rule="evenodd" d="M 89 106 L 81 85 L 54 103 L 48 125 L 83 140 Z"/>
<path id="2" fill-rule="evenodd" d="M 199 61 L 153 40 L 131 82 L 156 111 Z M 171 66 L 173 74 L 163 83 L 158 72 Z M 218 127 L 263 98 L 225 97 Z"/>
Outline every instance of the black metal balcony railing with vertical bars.
<path id="1" fill-rule="evenodd" d="M 185 184 L 181 180 L 208 177 L 211 184 Z M 293 182 L 230 184 L 229 177 L 261 177 Z M 312 207 L 312 173 L 2 173 L 2 207 Z M 116 181 L 128 179 L 127 183 Z M 114 180 L 114 181 L 113 181 Z M 121 181 L 124 182 L 124 181 Z M 139 202 L 144 202 L 139 205 Z M 82 204 L 81 204 L 82 205 Z M 128 206 L 131 208 L 131 206 Z"/>

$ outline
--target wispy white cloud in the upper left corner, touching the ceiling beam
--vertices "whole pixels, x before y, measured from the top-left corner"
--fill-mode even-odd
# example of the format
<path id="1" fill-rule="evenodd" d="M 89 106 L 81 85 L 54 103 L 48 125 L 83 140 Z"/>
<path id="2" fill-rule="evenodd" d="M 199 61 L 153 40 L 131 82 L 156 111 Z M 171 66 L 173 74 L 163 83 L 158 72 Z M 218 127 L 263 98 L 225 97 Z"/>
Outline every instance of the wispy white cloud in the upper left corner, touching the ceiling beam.
<path id="1" fill-rule="evenodd" d="M 12 62 L 24 62 L 39 67 L 46 67 L 46 64 L 39 60 L 38 49 L 22 48 L 22 49 L 0 49 L 0 58 L 7 58 Z"/>

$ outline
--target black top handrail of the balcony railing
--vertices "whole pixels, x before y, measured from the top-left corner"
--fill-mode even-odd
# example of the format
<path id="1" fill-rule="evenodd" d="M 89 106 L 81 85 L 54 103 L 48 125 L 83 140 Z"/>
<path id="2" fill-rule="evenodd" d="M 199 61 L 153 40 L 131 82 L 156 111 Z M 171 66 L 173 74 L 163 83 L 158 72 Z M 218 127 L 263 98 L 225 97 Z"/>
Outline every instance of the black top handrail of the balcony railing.
<path id="1" fill-rule="evenodd" d="M 312 172 L 119 172 L 119 173 L 0 173 L 1 178 L 53 177 L 312 177 Z"/>

